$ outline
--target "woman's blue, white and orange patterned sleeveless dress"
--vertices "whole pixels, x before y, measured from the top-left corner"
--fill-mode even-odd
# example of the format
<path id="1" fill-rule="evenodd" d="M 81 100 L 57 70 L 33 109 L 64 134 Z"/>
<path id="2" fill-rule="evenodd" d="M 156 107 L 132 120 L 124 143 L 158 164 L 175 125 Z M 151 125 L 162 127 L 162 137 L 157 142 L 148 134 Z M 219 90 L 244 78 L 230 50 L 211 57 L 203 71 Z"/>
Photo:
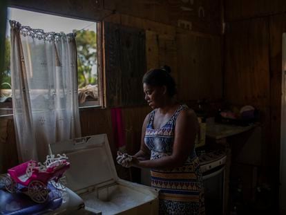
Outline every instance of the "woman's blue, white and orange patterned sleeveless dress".
<path id="1" fill-rule="evenodd" d="M 183 109 L 182 104 L 170 120 L 160 129 L 153 129 L 155 110 L 149 115 L 144 142 L 151 151 L 151 160 L 169 156 L 172 153 L 175 121 Z M 159 214 L 204 214 L 202 174 L 196 151 L 190 151 L 182 167 L 172 169 L 151 169 L 151 185 L 159 191 Z"/>

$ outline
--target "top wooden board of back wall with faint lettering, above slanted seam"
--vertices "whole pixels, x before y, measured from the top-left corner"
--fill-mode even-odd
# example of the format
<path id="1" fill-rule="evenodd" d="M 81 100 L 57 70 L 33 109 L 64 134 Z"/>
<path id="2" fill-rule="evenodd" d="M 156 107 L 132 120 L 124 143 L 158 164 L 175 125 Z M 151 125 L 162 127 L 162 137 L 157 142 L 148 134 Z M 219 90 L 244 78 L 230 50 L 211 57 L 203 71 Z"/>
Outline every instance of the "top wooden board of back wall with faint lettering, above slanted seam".
<path id="1" fill-rule="evenodd" d="M 104 8 L 197 32 L 220 34 L 220 3 L 219 0 L 105 0 Z"/>

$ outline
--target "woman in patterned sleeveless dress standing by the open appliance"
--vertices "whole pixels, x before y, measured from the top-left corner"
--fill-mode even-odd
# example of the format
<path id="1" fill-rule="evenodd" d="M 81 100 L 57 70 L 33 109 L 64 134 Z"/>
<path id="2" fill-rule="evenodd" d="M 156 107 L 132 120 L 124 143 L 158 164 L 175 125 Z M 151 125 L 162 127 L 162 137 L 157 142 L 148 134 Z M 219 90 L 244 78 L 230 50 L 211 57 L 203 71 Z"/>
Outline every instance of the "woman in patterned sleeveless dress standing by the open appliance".
<path id="1" fill-rule="evenodd" d="M 204 214 L 202 176 L 195 139 L 196 114 L 175 101 L 175 82 L 164 66 L 143 77 L 145 100 L 153 109 L 142 126 L 141 148 L 134 156 L 118 153 L 124 167 L 151 169 L 151 185 L 160 189 L 159 214 Z"/>

